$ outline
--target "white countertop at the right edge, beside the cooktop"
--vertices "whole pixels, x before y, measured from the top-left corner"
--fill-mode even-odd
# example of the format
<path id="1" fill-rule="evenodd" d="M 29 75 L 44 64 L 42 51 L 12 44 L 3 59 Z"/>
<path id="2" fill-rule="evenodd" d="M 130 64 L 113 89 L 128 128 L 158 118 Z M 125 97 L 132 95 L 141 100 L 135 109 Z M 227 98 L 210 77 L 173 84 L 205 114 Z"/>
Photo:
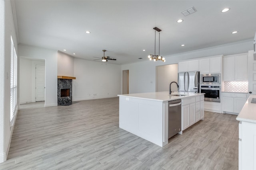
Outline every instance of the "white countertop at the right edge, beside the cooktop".
<path id="1" fill-rule="evenodd" d="M 244 107 L 236 117 L 236 120 L 256 123 L 256 103 L 251 103 L 252 98 L 256 98 L 256 95 L 250 95 L 250 97 L 244 104 Z"/>

